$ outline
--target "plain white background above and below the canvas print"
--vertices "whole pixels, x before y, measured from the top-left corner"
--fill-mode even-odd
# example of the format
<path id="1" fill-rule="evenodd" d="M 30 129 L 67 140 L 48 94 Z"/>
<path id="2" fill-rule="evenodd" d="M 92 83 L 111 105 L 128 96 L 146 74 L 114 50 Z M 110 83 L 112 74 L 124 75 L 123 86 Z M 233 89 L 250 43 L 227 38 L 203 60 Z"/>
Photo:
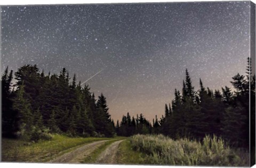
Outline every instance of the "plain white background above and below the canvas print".
<path id="1" fill-rule="evenodd" d="M 194 0 L 200 1 L 200 0 Z M 146 3 L 146 2 L 194 2 L 191 0 L 1 0 L 0 5 L 29 5 L 29 4 L 85 4 L 85 3 Z M 202 1 L 202 0 L 201 0 Z M 256 0 L 252 1 L 256 3 Z M 159 167 L 178 167 L 178 166 L 138 166 L 138 165 L 85 165 L 85 164 L 35 164 L 35 163 L 0 163 L 0 167 L 16 167 L 16 168 L 82 168 L 82 167 L 92 167 L 92 168 L 159 168 Z M 182 166 L 189 168 L 188 166 Z M 190 166 L 191 167 L 191 166 Z M 253 166 L 254 168 L 256 166 Z"/>

